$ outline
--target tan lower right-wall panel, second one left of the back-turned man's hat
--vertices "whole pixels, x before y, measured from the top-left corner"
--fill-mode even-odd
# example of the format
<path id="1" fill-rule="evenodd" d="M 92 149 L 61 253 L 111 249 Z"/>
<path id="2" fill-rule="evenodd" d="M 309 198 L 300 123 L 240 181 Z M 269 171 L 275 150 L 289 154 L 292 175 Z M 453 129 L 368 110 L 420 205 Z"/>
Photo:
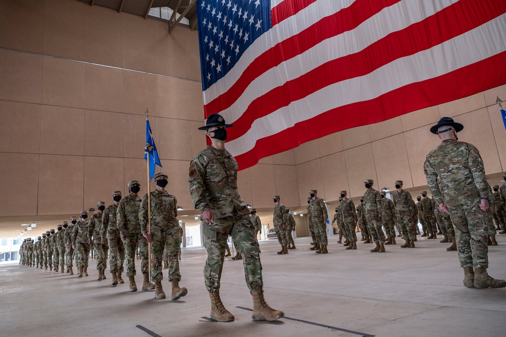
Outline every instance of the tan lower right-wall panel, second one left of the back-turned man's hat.
<path id="1" fill-rule="evenodd" d="M 402 180 L 404 188 L 413 187 L 403 134 L 372 142 L 372 153 L 377 177 L 375 189 L 394 189 L 396 180 Z"/>

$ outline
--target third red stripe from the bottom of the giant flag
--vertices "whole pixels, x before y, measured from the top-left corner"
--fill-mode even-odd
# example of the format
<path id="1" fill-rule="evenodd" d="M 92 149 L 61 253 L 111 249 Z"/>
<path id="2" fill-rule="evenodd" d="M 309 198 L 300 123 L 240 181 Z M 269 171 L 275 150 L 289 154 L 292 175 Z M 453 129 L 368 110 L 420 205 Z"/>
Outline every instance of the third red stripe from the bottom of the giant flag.
<path id="1" fill-rule="evenodd" d="M 229 108 L 240 97 L 251 81 L 267 70 L 305 52 L 327 38 L 356 28 L 382 9 L 392 6 L 399 1 L 401 0 L 378 0 L 374 2 L 357 0 L 350 7 L 334 15 L 325 17 L 301 33 L 290 36 L 278 43 L 260 55 L 255 61 L 251 62 L 237 82 L 227 92 L 204 105 L 205 118 L 210 114 Z"/>

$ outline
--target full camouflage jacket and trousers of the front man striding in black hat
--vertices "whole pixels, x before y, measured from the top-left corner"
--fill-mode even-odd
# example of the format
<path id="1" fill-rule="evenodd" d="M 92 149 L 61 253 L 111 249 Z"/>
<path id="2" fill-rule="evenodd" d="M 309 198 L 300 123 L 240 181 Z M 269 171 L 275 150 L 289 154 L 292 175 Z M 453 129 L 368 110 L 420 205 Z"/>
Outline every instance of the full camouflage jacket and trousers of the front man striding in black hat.
<path id="1" fill-rule="evenodd" d="M 214 223 L 203 221 L 202 233 L 207 261 L 205 286 L 209 293 L 220 290 L 221 272 L 227 238 L 232 236 L 242 256 L 246 283 L 250 291 L 261 291 L 262 265 L 253 225 L 246 203 L 237 190 L 237 162 L 227 150 L 211 146 L 197 154 L 190 163 L 190 195 L 195 209 L 212 210 Z"/>

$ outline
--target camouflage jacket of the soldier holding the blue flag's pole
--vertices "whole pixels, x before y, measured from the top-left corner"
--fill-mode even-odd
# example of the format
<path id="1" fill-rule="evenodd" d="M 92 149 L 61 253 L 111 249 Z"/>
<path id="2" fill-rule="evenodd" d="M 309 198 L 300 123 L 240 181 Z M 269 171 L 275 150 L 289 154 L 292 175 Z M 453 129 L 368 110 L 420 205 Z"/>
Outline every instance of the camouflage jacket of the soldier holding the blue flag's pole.
<path id="1" fill-rule="evenodd" d="M 151 226 L 162 227 L 165 229 L 179 226 L 178 200 L 167 191 L 155 189 L 151 192 Z M 148 194 L 142 198 L 141 208 L 139 210 L 139 220 L 141 223 L 141 232 L 148 231 Z"/>

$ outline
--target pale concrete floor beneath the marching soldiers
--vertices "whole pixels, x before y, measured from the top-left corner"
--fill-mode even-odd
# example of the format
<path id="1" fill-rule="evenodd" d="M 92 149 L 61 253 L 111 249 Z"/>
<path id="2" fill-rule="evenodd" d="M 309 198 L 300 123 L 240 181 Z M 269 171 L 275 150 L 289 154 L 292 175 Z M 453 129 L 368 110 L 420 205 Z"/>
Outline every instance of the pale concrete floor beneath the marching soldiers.
<path id="1" fill-rule="evenodd" d="M 335 240 L 325 255 L 309 251 L 305 237 L 296 239 L 297 250 L 288 255 L 276 255 L 277 242 L 261 242 L 267 303 L 286 316 L 275 322 L 251 320 L 242 263 L 230 258 L 221 294 L 235 322 L 206 319 L 210 304 L 202 276 L 203 248 L 183 250 L 181 285 L 189 293 L 179 301 L 155 300 L 152 291 L 130 293 L 128 280 L 113 287 L 108 271 L 106 280 L 96 281 L 94 260 L 90 276 L 83 278 L 2 263 L 0 335 L 506 335 L 506 288 L 464 287 L 456 252 L 445 250 L 449 244 L 419 238 L 415 249 L 398 244 L 386 246 L 386 253 L 369 253 L 373 245 L 358 242 L 358 250 L 345 251 Z M 506 235 L 497 241 L 499 246 L 490 247 L 489 272 L 505 279 Z M 139 286 L 141 275 L 136 279 Z M 163 285 L 170 294 L 170 283 L 165 279 Z"/>

